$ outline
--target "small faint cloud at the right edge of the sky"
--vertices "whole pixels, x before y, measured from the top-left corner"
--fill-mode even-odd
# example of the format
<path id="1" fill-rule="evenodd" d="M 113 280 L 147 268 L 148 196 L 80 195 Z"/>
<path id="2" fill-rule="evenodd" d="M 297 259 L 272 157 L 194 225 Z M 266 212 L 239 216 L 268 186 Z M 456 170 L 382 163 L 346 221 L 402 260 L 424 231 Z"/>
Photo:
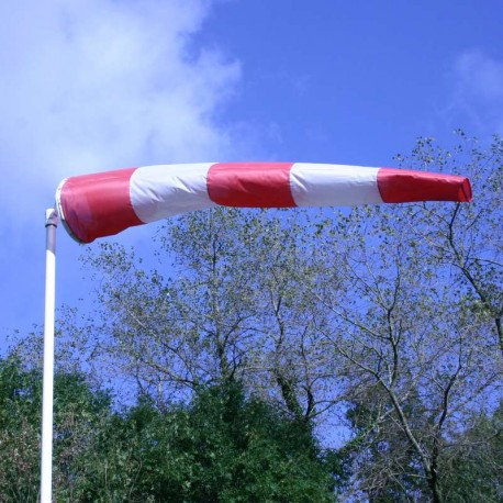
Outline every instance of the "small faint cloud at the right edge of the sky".
<path id="1" fill-rule="evenodd" d="M 461 54 L 454 65 L 450 112 L 482 133 L 503 134 L 503 60 L 480 51 Z"/>

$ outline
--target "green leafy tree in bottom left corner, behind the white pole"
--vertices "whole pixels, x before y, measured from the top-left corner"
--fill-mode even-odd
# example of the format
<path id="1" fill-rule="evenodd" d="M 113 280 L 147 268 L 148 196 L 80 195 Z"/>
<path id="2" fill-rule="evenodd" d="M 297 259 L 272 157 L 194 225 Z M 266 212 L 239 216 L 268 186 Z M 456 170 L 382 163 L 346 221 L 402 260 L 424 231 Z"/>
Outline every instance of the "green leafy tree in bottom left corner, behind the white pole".
<path id="1" fill-rule="evenodd" d="M 92 390 L 81 373 L 55 376 L 55 498 L 80 501 L 94 440 L 107 423 L 110 396 Z M 42 372 L 26 368 L 15 353 L 0 360 L 0 501 L 37 501 Z"/>

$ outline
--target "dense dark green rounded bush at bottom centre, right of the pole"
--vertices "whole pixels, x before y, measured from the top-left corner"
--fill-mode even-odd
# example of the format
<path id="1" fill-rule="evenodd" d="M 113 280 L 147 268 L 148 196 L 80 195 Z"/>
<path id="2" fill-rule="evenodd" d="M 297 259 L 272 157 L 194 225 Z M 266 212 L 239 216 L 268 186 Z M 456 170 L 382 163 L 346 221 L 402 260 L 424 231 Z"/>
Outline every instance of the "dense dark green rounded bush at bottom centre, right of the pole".
<path id="1" fill-rule="evenodd" d="M 168 412 L 145 400 L 107 437 L 108 472 L 120 477 L 97 473 L 89 501 L 109 501 L 103 484 L 127 501 L 335 501 L 332 466 L 309 428 L 245 399 L 237 384 L 200 390 Z"/>

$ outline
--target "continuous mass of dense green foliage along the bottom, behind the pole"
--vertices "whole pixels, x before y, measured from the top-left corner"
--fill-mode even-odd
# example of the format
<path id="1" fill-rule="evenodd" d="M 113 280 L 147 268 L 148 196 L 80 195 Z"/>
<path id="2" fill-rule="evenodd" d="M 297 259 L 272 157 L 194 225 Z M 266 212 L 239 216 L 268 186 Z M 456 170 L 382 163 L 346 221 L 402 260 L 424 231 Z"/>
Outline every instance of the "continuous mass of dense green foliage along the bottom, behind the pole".
<path id="1" fill-rule="evenodd" d="M 36 501 L 41 380 L 0 362 L 0 501 Z M 234 382 L 159 411 L 113 412 L 80 375 L 55 387 L 54 495 L 72 502 L 329 502 L 336 461 L 299 423 Z"/>

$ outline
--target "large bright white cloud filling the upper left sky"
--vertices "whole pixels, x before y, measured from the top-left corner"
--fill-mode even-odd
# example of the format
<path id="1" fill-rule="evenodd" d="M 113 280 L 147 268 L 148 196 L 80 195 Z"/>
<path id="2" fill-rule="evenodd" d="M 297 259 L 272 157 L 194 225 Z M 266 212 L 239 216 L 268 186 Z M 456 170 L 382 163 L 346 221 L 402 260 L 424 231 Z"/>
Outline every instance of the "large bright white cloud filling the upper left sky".
<path id="1" fill-rule="evenodd" d="M 19 214 L 21 180 L 23 211 L 40 212 L 66 176 L 228 155 L 228 132 L 214 116 L 239 65 L 194 46 L 209 8 L 1 2 L 0 204 Z"/>

